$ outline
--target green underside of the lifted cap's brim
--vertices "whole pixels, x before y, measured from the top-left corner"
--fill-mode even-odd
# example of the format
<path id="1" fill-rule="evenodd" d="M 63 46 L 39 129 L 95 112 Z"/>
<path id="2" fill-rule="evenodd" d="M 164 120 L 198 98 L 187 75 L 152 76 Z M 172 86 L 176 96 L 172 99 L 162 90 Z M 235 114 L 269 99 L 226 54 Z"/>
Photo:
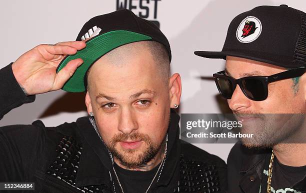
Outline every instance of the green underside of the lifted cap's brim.
<path id="1" fill-rule="evenodd" d="M 56 72 L 60 71 L 72 59 L 81 58 L 83 60 L 83 63 L 61 89 L 68 92 L 85 91 L 84 76 L 96 60 L 121 45 L 151 39 L 152 37 L 150 36 L 127 30 L 108 31 L 92 37 L 86 41 L 85 48 L 78 50 L 73 55 L 66 55 L 59 63 Z"/>

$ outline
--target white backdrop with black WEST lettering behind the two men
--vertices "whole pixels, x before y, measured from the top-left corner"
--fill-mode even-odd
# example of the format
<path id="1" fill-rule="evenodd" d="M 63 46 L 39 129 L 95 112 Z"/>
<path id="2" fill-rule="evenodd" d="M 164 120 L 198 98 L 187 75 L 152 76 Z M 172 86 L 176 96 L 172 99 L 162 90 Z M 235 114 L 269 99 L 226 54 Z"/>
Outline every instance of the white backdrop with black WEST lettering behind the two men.
<path id="1" fill-rule="evenodd" d="M 119 0 L 124 2 L 124 0 Z M 212 73 L 224 67 L 224 60 L 206 59 L 194 50 L 221 50 L 227 27 L 237 14 L 258 5 L 288 4 L 306 12 L 303 0 L 126 0 L 135 14 L 146 13 L 157 20 L 172 49 L 171 72 L 182 77 L 181 113 L 220 113 L 228 110 L 218 96 Z M 41 43 L 74 40 L 91 17 L 116 10 L 116 0 L 6 0 L 0 2 L 0 68 Z M 157 3 L 157 8 L 155 6 Z M 127 6 L 128 7 L 128 6 Z M 156 18 L 154 11 L 156 8 Z M 275 18 L 277 19 L 277 18 Z M 71 100 L 72 98 L 72 100 Z M 74 99 L 75 98 L 75 99 Z M 29 124 L 41 119 L 46 126 L 72 122 L 86 115 L 82 94 L 59 90 L 36 96 L 7 113 L 0 126 Z M 195 144 L 226 161 L 233 144 Z"/>

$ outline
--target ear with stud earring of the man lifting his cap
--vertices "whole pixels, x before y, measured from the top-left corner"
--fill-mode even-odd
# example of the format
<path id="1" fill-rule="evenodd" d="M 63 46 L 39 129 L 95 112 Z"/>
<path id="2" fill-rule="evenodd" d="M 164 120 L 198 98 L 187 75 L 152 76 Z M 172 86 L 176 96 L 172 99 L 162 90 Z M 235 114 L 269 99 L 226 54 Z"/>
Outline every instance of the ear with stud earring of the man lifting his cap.
<path id="1" fill-rule="evenodd" d="M 181 95 L 181 79 L 178 73 L 174 73 L 169 78 L 169 101 L 170 108 L 174 107 L 174 104 L 179 105 Z"/>

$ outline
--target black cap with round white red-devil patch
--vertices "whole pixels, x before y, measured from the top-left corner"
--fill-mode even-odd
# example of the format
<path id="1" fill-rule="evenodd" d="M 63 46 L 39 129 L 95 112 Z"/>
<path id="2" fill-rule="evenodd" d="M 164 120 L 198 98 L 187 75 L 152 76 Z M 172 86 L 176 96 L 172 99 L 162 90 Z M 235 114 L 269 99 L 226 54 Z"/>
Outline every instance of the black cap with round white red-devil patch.
<path id="1" fill-rule="evenodd" d="M 306 14 L 287 5 L 255 7 L 230 22 L 222 51 L 194 54 L 237 56 L 286 68 L 306 66 Z"/>

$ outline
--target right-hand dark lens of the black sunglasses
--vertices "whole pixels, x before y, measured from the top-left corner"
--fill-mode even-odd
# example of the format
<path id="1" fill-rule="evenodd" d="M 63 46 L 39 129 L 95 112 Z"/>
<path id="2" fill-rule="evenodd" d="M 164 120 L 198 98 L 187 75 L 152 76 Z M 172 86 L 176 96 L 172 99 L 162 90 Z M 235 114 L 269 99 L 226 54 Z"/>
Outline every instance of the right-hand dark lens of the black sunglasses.
<path id="1" fill-rule="evenodd" d="M 243 79 L 242 89 L 249 98 L 254 100 L 263 100 L 266 97 L 264 82 L 258 79 Z"/>

